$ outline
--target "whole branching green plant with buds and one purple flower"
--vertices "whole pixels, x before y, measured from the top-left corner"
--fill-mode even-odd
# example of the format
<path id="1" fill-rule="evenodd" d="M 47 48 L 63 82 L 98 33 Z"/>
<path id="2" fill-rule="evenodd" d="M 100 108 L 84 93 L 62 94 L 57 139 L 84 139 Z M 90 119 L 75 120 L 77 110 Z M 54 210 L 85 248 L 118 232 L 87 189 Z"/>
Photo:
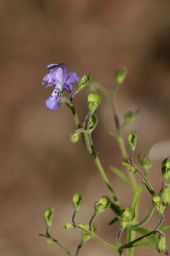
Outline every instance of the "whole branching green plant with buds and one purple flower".
<path id="1" fill-rule="evenodd" d="M 97 92 L 91 92 L 88 95 L 88 114 L 86 119 L 84 120 L 84 124 L 81 125 L 79 122 L 79 118 L 75 111 L 75 106 L 73 104 L 73 97 L 76 93 L 80 92 L 85 86 L 88 86 L 90 81 L 89 75 L 84 75 L 80 77 L 75 72 L 67 73 L 67 68 L 64 63 L 61 64 L 50 64 L 47 66 L 49 68 L 49 74 L 43 77 L 42 86 L 48 88 L 52 84 L 54 84 L 55 88 L 50 97 L 46 100 L 46 105 L 48 108 L 55 110 L 59 108 L 60 102 L 65 102 L 66 106 L 71 109 L 73 114 L 73 119 L 75 120 L 75 125 L 77 129 L 70 134 L 70 142 L 76 143 L 79 138 L 82 138 L 82 142 L 86 146 L 89 154 L 93 157 L 95 164 L 100 172 L 102 179 L 105 182 L 105 185 L 108 188 L 109 196 L 105 195 L 100 198 L 94 204 L 94 212 L 91 215 L 90 220 L 88 221 L 88 225 L 84 225 L 82 223 L 78 224 L 75 220 L 77 212 L 82 204 L 82 195 L 78 195 L 75 193 L 73 196 L 73 215 L 72 215 L 72 223 L 65 223 L 64 229 L 68 228 L 78 228 L 81 230 L 81 243 L 77 246 L 77 251 L 73 254 L 69 248 L 61 244 L 58 240 L 52 237 L 49 233 L 49 228 L 52 225 L 52 218 L 54 215 L 54 209 L 49 208 L 45 211 L 44 220 L 46 223 L 46 234 L 40 234 L 40 236 L 45 237 L 47 239 L 47 245 L 51 243 L 57 243 L 65 252 L 70 256 L 77 256 L 79 254 L 79 250 L 82 245 L 93 238 L 98 243 L 103 244 L 107 248 L 116 251 L 119 255 L 123 255 L 124 250 L 127 249 L 127 255 L 134 255 L 134 248 L 137 246 L 148 246 L 151 243 L 155 244 L 155 248 L 158 253 L 164 253 L 168 255 L 166 248 L 166 236 L 164 234 L 164 230 L 169 228 L 170 226 L 161 227 L 164 220 L 164 210 L 167 205 L 170 204 L 170 186 L 167 184 L 167 180 L 170 177 L 170 161 L 168 157 L 162 161 L 162 182 L 159 193 L 155 193 L 155 190 L 151 186 L 150 181 L 147 178 L 147 173 L 151 168 L 152 162 L 148 157 L 138 157 L 139 163 L 143 167 L 143 170 L 140 170 L 137 165 L 134 164 L 133 155 L 135 152 L 135 147 L 137 143 L 137 133 L 135 131 L 130 132 L 128 136 L 128 145 L 130 147 L 129 154 L 127 148 L 125 147 L 125 140 L 123 137 L 123 128 L 125 125 L 133 122 L 138 116 L 140 111 L 137 110 L 135 112 L 128 111 L 125 113 L 124 122 L 120 124 L 120 118 L 116 111 L 115 106 L 115 98 L 116 94 L 124 82 L 125 77 L 127 76 L 127 68 L 121 68 L 116 70 L 115 78 L 116 83 L 114 84 L 112 91 L 109 92 L 103 86 L 95 85 L 95 90 Z M 63 67 L 63 68 L 62 68 Z M 75 83 L 75 88 L 72 91 L 72 84 Z M 94 84 L 93 84 L 94 89 Z M 70 94 L 70 99 L 67 99 L 63 96 L 65 90 Z M 95 147 L 93 146 L 93 140 L 91 138 L 91 134 L 94 129 L 97 127 L 97 116 L 94 114 L 95 110 L 98 108 L 98 105 L 101 102 L 101 95 L 104 95 L 109 99 L 112 105 L 112 111 L 114 114 L 114 121 L 116 124 L 116 133 L 110 132 L 110 136 L 112 136 L 116 141 L 118 141 L 118 145 L 121 150 L 121 154 L 123 157 L 122 164 L 127 168 L 127 175 L 123 172 L 115 168 L 114 166 L 110 166 L 111 171 L 114 175 L 117 175 L 123 182 L 126 182 L 128 186 L 134 191 L 134 198 L 132 198 L 132 204 L 127 206 L 125 209 L 122 208 L 121 202 L 118 200 L 114 189 L 112 188 L 111 182 L 107 178 L 107 175 L 100 163 L 100 159 L 98 158 L 98 154 L 95 151 Z M 141 177 L 142 183 L 139 185 L 135 179 L 135 173 L 138 173 Z M 139 198 L 142 193 L 143 185 L 148 189 L 148 193 L 151 197 L 151 209 L 148 212 L 146 218 L 142 221 L 138 221 L 138 211 L 139 211 Z M 106 211 L 107 209 L 111 209 L 116 217 L 109 221 L 109 225 L 113 225 L 116 221 L 120 221 L 120 227 L 118 229 L 118 235 L 116 237 L 116 244 L 109 244 L 96 234 L 96 226 L 94 224 L 94 219 L 97 218 L 99 214 Z M 160 215 L 160 219 L 155 227 L 152 230 L 147 230 L 143 228 L 143 225 L 147 223 L 153 212 L 157 211 Z M 126 232 L 126 243 L 121 244 L 121 234 Z M 140 233 L 142 236 L 135 238 L 136 233 Z M 147 238 L 149 241 L 143 241 L 144 238 Z"/>

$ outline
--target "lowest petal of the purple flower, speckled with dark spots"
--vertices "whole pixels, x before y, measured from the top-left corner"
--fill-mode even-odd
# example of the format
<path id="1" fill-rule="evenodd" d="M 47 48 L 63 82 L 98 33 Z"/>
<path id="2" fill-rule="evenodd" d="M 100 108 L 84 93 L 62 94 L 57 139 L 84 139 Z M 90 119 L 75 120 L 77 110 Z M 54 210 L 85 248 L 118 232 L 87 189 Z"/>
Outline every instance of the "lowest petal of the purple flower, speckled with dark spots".
<path id="1" fill-rule="evenodd" d="M 61 101 L 59 88 L 54 88 L 54 91 L 50 97 L 45 101 L 47 108 L 56 110 L 59 108 L 59 103 Z"/>

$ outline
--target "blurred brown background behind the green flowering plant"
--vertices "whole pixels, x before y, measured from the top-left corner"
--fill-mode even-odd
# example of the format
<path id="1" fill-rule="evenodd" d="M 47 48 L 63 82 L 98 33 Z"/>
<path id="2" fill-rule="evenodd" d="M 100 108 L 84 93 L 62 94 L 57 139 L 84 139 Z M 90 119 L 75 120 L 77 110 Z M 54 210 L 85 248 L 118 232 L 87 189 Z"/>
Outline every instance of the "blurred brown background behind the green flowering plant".
<path id="1" fill-rule="evenodd" d="M 87 223 L 93 203 L 108 191 L 92 157 L 79 141 L 69 142 L 75 130 L 70 109 L 50 111 L 45 106 L 52 88 L 40 84 L 49 63 L 66 63 L 68 71 L 82 76 L 91 73 L 111 90 L 114 70 L 125 65 L 128 77 L 117 98 L 118 112 L 141 109 L 141 116 L 125 128 L 125 138 L 135 129 L 135 154 L 148 156 L 155 143 L 170 138 L 170 2 L 116 0 L 1 0 L 0 77 L 1 77 L 1 255 L 66 255 L 56 244 L 49 248 L 38 233 L 45 232 L 43 212 L 55 209 L 52 236 L 75 252 L 81 241 L 79 230 L 62 230 L 72 216 L 72 196 L 82 193 L 84 201 L 77 221 Z M 75 97 L 81 122 L 88 111 L 87 92 Z M 115 131 L 111 106 L 102 98 L 97 110 L 98 127 L 93 132 L 95 148 L 122 207 L 132 203 L 133 194 L 109 170 L 121 166 L 122 157 L 109 131 Z M 170 154 L 157 148 L 149 179 L 158 192 L 160 163 Z M 157 157 L 157 160 L 155 159 Z M 136 160 L 135 160 L 136 161 Z M 140 179 L 138 179 L 140 182 Z M 141 196 L 139 219 L 151 206 L 146 188 Z M 169 224 L 169 209 L 164 225 Z M 97 234 L 116 243 L 119 223 L 111 210 L 97 219 Z M 145 225 L 152 229 L 158 213 Z M 167 241 L 169 231 L 167 230 Z M 123 237 L 123 241 L 125 238 Z M 169 244 L 167 249 L 170 251 Z M 137 248 L 136 255 L 158 255 L 153 245 Z M 88 241 L 80 255 L 117 255 L 96 241 Z"/>

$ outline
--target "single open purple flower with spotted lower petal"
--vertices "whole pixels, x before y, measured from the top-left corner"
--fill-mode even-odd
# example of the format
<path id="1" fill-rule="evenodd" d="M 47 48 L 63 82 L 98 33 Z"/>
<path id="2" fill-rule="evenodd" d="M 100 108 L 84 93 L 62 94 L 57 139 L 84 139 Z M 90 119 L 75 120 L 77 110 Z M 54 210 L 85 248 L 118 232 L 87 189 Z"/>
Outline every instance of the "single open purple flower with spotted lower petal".
<path id="1" fill-rule="evenodd" d="M 75 72 L 67 73 L 67 67 L 64 63 L 50 64 L 47 68 L 50 72 L 43 77 L 42 86 L 48 88 L 54 84 L 56 87 L 45 103 L 48 108 L 56 110 L 61 101 L 61 90 L 65 89 L 69 93 L 72 92 L 72 83 L 80 81 L 80 77 Z"/>

